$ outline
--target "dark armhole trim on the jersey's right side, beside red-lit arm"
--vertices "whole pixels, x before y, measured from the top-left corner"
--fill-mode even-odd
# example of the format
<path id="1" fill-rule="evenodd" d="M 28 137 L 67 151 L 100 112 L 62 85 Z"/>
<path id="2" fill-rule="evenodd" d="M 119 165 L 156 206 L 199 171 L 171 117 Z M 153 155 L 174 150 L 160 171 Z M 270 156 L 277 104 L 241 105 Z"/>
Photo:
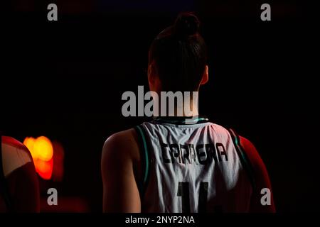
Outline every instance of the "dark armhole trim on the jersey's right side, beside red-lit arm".
<path id="1" fill-rule="evenodd" d="M 237 151 L 239 157 L 240 157 L 240 162 L 242 166 L 245 168 L 245 171 L 247 172 L 247 176 L 250 179 L 251 186 L 252 186 L 252 191 L 255 191 L 256 189 L 256 182 L 255 182 L 255 174 L 253 171 L 252 164 L 247 157 L 247 153 L 245 153 L 245 149 L 242 148 L 242 145 L 240 144 L 240 137 L 238 133 L 236 133 L 232 128 L 228 129 L 231 138 L 233 139 L 233 144 L 235 145 L 235 150 Z"/>

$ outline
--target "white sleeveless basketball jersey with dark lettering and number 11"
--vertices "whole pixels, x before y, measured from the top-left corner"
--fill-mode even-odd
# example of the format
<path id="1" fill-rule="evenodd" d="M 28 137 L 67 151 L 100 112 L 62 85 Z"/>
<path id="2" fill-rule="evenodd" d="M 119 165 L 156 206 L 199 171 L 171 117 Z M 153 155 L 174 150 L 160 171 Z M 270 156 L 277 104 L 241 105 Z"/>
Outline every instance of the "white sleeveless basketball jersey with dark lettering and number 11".
<path id="1" fill-rule="evenodd" d="M 142 212 L 249 211 L 254 181 L 233 131 L 206 118 L 156 118 L 136 130 Z"/>

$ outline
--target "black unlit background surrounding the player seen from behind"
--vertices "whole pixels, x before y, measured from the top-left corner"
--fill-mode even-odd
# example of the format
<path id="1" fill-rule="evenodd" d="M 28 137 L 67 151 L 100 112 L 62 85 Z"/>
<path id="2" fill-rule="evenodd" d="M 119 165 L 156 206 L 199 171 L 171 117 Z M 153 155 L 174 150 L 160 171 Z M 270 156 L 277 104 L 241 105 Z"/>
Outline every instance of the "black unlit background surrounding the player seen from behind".
<path id="1" fill-rule="evenodd" d="M 49 22 L 46 6 L 54 2 L 58 21 Z M 272 21 L 260 20 L 262 3 L 271 5 Z M 319 211 L 319 59 L 307 8 L 297 1 L 10 1 L 1 28 L 1 131 L 62 143 L 58 192 L 101 211 L 102 145 L 146 120 L 122 116 L 122 93 L 147 85 L 153 38 L 178 12 L 195 11 L 210 58 L 201 114 L 255 144 L 277 211 Z"/>

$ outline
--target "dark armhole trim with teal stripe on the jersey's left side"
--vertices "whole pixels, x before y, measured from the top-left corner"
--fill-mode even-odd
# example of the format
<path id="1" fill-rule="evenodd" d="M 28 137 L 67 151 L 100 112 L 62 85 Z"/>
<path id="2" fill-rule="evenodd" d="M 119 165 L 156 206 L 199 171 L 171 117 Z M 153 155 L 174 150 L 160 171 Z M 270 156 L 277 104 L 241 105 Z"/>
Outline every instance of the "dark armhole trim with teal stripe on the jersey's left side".
<path id="1" fill-rule="evenodd" d="M 148 140 L 146 140 L 146 132 L 143 126 L 135 126 L 134 129 L 137 132 L 139 153 L 142 160 L 142 182 L 139 182 L 138 184 L 140 198 L 142 199 L 146 192 L 146 186 L 148 185 L 150 175 L 149 143 Z"/>

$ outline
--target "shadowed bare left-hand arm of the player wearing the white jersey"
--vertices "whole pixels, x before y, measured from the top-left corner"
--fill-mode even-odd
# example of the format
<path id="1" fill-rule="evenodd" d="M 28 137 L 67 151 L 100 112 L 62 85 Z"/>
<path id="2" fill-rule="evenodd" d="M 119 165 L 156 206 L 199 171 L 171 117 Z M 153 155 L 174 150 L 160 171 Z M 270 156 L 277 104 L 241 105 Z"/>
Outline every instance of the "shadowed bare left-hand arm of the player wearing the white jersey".
<path id="1" fill-rule="evenodd" d="M 137 171 L 139 147 L 134 129 L 111 135 L 102 149 L 103 211 L 141 211 Z"/>

